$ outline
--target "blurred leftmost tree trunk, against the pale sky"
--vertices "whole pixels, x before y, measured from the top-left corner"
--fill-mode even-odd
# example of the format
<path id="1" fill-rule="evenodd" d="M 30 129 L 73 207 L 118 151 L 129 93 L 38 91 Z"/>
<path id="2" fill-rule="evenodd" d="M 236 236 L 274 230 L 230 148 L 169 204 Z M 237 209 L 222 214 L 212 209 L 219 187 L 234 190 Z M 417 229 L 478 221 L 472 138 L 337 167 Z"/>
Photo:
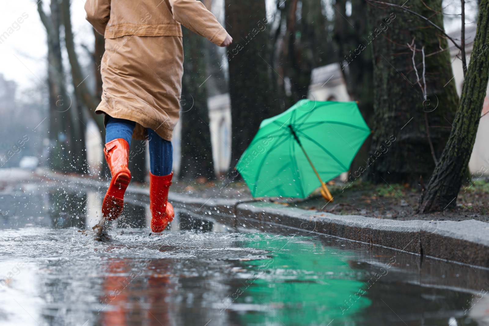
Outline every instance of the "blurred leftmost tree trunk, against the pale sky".
<path id="1" fill-rule="evenodd" d="M 87 173 L 85 133 L 78 119 L 77 103 L 68 95 L 61 56 L 60 27 L 61 12 L 57 0 L 50 4 L 51 15 L 38 2 L 38 13 L 46 28 L 48 45 L 48 85 L 49 85 L 49 138 L 51 153 L 50 166 L 61 172 Z"/>

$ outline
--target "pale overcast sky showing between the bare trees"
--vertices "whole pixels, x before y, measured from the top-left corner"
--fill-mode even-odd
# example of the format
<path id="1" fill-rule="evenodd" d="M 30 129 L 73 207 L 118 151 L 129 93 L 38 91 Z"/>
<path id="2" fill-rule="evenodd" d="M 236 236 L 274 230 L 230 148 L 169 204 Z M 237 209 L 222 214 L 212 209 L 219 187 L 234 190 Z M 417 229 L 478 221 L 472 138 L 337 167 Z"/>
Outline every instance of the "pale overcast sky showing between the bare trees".
<path id="1" fill-rule="evenodd" d="M 44 6 L 49 0 L 44 0 Z M 12 24 L 17 22 L 22 14 L 28 15 L 24 21 L 16 26 L 14 32 L 6 41 L 0 44 L 0 73 L 7 80 L 14 80 L 20 88 L 32 87 L 42 81 L 45 84 L 46 75 L 46 35 L 44 26 L 39 19 L 36 9 L 35 0 L 16 0 L 2 1 L 2 10 L 0 11 L 0 34 L 7 31 Z M 268 8 L 273 8 L 273 0 L 268 0 Z M 473 4 L 475 0 L 468 1 L 467 4 L 467 23 L 473 21 Z M 85 20 L 85 10 L 83 8 L 84 0 L 72 0 L 71 16 L 75 42 L 84 43 L 89 48 L 93 47 L 93 35 L 91 26 Z M 444 0 L 445 12 L 451 14 L 460 13 L 460 3 L 454 0 Z M 48 11 L 48 8 L 46 8 Z M 454 17 L 454 20 L 445 21 L 445 28 L 448 31 L 454 28 L 460 28 L 460 18 Z M 10 30 L 11 31 L 11 30 Z M 81 47 L 77 48 L 79 53 L 83 53 Z M 80 61 L 89 60 L 86 55 L 80 56 Z M 39 81 L 40 80 L 40 81 Z"/>

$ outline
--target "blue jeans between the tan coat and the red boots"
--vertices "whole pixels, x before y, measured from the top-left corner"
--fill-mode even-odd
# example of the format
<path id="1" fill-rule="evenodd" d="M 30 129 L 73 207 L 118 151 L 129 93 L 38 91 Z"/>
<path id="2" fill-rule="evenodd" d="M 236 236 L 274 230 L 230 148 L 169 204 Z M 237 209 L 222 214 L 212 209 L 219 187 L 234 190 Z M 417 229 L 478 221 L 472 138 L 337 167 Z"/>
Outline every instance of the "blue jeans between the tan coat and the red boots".
<path id="1" fill-rule="evenodd" d="M 131 138 L 136 123 L 131 120 L 112 118 L 109 116 L 105 126 L 105 143 L 122 138 L 131 145 Z M 150 147 L 150 170 L 154 175 L 162 176 L 172 173 L 173 147 L 172 143 L 158 136 L 158 134 L 148 128 L 149 147 Z"/>

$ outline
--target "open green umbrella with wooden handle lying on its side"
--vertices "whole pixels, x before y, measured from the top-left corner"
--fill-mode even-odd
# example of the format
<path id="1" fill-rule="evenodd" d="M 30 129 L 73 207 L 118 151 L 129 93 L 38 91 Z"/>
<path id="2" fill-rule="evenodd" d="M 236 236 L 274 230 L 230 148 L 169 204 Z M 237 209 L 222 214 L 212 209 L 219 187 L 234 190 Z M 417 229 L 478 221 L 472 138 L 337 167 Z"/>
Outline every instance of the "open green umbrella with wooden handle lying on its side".
<path id="1" fill-rule="evenodd" d="M 348 171 L 369 134 L 355 102 L 301 100 L 262 121 L 236 169 L 253 197 L 305 198 L 327 192 L 322 180 Z"/>

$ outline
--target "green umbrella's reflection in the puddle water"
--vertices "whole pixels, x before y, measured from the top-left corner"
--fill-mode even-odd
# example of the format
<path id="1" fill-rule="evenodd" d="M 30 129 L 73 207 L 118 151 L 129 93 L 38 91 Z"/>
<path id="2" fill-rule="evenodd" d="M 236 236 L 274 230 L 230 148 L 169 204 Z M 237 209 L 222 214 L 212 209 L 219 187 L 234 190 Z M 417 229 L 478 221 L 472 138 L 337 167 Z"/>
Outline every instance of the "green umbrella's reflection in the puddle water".
<path id="1" fill-rule="evenodd" d="M 246 311 L 239 314 L 243 325 L 337 325 L 371 304 L 357 294 L 363 273 L 348 266 L 345 250 L 313 238 L 250 237 L 257 239 L 246 247 L 272 252 L 268 260 L 243 262 L 247 272 L 231 306 Z"/>

